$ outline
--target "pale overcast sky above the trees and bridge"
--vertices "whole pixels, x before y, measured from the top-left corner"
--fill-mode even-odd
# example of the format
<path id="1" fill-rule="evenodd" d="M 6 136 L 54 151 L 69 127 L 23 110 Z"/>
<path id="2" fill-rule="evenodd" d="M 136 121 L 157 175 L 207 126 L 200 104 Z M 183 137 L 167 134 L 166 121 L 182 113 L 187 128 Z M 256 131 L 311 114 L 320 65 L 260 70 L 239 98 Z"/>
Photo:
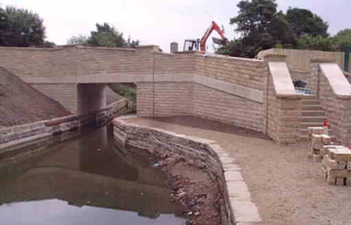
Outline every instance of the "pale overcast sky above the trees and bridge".
<path id="1" fill-rule="evenodd" d="M 56 44 L 66 44 L 71 36 L 89 35 L 95 30 L 95 23 L 107 22 L 123 31 L 125 38 L 131 36 L 141 44 L 157 44 L 169 52 L 173 41 L 182 48 L 184 39 L 201 38 L 211 21 L 223 25 L 227 38 L 232 40 L 236 34 L 229 20 L 237 16 L 239 1 L 0 0 L 0 5 L 16 5 L 37 12 L 47 27 L 47 39 Z M 289 6 L 311 10 L 329 23 L 330 34 L 351 28 L 350 0 L 277 0 L 277 3 L 284 12 Z M 208 42 L 210 49 L 211 45 Z"/>

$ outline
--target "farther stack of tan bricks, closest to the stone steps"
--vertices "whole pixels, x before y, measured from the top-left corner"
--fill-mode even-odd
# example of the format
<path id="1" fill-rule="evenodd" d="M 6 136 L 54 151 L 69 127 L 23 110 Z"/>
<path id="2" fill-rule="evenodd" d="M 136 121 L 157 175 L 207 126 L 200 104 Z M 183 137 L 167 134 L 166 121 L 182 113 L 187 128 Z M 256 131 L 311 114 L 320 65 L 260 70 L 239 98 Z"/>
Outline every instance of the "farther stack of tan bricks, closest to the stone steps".
<path id="1" fill-rule="evenodd" d="M 308 157 L 315 162 L 321 162 L 326 149 L 332 147 L 331 137 L 323 134 L 323 127 L 308 127 Z"/>

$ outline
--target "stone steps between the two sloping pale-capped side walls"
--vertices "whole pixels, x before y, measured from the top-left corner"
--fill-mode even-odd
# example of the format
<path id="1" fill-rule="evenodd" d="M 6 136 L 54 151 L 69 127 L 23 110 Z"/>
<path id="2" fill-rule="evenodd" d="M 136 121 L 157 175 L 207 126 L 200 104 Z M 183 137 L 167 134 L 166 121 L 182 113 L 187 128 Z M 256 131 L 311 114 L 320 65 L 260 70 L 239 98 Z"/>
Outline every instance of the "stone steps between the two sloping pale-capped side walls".
<path id="1" fill-rule="evenodd" d="M 317 98 L 302 99 L 301 139 L 307 140 L 307 127 L 323 127 L 326 111 Z M 332 131 L 329 129 L 329 135 Z"/>

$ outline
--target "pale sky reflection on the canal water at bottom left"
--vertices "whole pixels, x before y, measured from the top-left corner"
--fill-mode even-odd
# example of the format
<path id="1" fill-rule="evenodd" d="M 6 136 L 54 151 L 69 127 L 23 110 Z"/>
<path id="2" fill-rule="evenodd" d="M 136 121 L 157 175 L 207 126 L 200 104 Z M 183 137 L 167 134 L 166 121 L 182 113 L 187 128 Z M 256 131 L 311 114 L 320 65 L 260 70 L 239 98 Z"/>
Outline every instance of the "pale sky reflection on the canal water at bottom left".
<path id="1" fill-rule="evenodd" d="M 62 200 L 19 202 L 0 206 L 0 224 L 182 224 L 182 219 L 173 215 L 160 215 L 157 220 L 145 219 L 134 212 L 99 207 L 75 207 Z M 14 212 L 16 216 L 14 216 Z M 40 216 L 33 216 L 40 215 Z M 23 220 L 25 218 L 25 220 Z"/>

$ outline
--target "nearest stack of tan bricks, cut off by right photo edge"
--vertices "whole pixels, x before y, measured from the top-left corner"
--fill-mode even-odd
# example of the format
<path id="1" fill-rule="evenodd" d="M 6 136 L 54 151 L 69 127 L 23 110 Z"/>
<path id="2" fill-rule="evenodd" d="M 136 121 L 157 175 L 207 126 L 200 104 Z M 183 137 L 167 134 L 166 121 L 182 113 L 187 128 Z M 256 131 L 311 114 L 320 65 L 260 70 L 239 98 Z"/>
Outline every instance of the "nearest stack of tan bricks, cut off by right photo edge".
<path id="1" fill-rule="evenodd" d="M 351 185 L 351 150 L 343 146 L 328 148 L 322 169 L 329 185 Z"/>

